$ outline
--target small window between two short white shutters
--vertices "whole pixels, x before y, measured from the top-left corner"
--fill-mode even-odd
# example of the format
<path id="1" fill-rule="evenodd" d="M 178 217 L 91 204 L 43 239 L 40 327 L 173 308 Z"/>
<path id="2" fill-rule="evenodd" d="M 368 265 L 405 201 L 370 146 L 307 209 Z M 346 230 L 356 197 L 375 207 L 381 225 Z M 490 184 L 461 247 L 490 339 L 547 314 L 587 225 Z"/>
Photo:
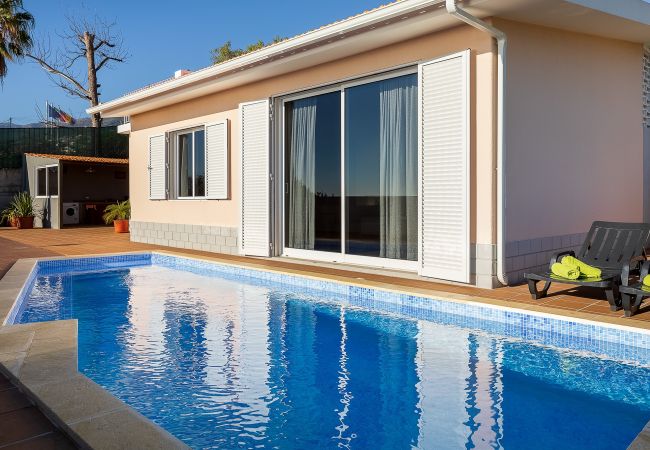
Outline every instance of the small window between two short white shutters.
<path id="1" fill-rule="evenodd" d="M 178 198 L 205 197 L 205 131 L 176 135 L 176 192 Z"/>

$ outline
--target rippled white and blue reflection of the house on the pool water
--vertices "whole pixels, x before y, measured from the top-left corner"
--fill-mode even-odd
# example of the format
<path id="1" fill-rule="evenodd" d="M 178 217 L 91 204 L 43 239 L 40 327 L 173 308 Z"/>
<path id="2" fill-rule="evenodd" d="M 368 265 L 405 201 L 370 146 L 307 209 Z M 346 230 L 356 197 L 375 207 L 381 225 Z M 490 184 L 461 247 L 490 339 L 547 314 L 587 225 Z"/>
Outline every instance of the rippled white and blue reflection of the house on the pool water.
<path id="1" fill-rule="evenodd" d="M 133 283 L 128 314 L 130 351 L 162 370 L 159 407 L 181 402 L 195 415 L 184 427 L 217 430 L 225 446 L 501 445 L 498 342 L 263 286 L 192 281 L 171 292 Z M 174 397 L 179 384 L 193 396 Z"/>

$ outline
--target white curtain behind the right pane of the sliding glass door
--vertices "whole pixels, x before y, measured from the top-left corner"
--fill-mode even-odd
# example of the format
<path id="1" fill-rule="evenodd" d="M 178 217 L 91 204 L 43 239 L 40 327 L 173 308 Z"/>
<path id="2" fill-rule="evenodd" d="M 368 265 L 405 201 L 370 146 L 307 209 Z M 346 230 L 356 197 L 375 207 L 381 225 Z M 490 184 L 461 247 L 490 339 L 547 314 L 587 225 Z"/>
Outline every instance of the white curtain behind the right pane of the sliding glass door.
<path id="1" fill-rule="evenodd" d="M 417 260 L 417 85 L 380 82 L 380 255 Z"/>

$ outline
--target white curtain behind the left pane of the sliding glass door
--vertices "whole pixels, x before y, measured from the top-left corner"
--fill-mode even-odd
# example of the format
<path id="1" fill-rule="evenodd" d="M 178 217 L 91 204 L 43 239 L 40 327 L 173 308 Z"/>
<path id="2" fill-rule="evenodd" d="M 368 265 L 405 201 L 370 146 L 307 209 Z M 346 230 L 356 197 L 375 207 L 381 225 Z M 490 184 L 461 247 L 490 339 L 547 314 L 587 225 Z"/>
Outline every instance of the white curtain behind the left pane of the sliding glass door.
<path id="1" fill-rule="evenodd" d="M 293 102 L 289 162 L 289 247 L 314 249 L 316 189 L 315 98 Z"/>

